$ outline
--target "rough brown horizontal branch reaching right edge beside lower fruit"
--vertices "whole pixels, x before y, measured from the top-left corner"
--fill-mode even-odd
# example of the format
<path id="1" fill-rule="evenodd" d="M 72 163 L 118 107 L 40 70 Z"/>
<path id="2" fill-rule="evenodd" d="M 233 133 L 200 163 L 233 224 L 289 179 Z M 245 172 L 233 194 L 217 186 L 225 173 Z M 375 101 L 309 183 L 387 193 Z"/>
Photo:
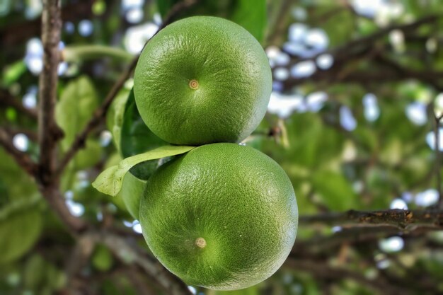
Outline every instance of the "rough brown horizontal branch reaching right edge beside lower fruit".
<path id="1" fill-rule="evenodd" d="M 443 229 L 443 210 L 401 210 L 355 211 L 300 216 L 301 224 L 328 224 L 353 226 L 396 226 L 406 229 L 410 226 L 432 226 Z"/>

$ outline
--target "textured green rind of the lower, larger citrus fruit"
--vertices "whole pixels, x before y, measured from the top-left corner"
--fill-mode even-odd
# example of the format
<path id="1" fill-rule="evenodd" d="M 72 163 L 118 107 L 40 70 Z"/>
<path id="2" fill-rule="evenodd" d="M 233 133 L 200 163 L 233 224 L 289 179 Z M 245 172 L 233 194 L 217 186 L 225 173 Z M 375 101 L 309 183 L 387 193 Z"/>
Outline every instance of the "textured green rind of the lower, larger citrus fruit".
<path id="1" fill-rule="evenodd" d="M 294 244 L 298 211 L 284 170 L 238 144 L 200 146 L 152 175 L 141 200 L 144 238 L 187 284 L 242 289 L 267 279 Z M 205 238 L 205 248 L 195 245 Z"/>

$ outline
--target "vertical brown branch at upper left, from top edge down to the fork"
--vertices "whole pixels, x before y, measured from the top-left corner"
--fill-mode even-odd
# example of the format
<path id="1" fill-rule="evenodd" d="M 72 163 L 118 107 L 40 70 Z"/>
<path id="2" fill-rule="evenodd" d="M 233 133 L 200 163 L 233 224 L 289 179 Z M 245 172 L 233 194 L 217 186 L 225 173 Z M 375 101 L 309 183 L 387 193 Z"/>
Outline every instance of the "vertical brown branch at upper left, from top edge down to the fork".
<path id="1" fill-rule="evenodd" d="M 43 69 L 39 80 L 38 138 L 40 146 L 40 173 L 38 180 L 42 184 L 52 181 L 56 158 L 56 144 L 60 131 L 54 120 L 54 107 L 57 101 L 57 68 L 60 53 L 59 0 L 43 1 L 42 45 Z"/>

